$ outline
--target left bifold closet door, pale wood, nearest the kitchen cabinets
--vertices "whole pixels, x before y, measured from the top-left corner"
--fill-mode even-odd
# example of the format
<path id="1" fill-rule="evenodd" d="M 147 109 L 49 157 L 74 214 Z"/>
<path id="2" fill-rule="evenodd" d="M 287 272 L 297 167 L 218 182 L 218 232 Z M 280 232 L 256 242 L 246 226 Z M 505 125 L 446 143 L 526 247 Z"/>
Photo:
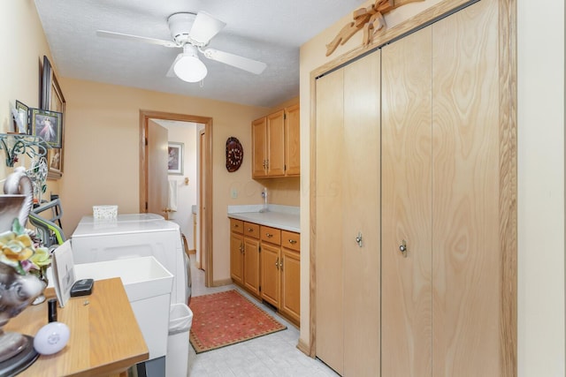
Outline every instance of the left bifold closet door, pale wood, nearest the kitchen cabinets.
<path id="1" fill-rule="evenodd" d="M 316 353 L 379 375 L 380 53 L 317 79 Z"/>

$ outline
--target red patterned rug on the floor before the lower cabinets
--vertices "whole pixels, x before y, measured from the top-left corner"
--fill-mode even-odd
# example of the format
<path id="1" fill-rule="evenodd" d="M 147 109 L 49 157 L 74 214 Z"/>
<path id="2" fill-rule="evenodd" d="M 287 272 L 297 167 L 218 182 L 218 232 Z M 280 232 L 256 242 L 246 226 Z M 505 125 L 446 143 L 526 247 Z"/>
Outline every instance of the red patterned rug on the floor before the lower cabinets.
<path id="1" fill-rule="evenodd" d="M 196 353 L 215 350 L 258 336 L 284 330 L 274 320 L 237 290 L 191 298 L 193 326 L 190 341 Z"/>

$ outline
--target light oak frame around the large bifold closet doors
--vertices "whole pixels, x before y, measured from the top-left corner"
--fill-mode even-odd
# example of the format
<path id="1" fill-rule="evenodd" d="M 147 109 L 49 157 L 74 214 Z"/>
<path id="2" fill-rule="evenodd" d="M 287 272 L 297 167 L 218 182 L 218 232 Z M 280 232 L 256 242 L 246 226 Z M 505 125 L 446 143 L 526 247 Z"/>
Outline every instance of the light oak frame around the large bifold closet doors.
<path id="1" fill-rule="evenodd" d="M 339 69 L 358 57 L 391 41 L 427 26 L 479 0 L 444 0 L 374 37 L 370 46 L 360 46 L 321 65 L 310 72 L 310 313 L 309 343 L 299 339 L 298 348 L 316 356 L 316 267 L 317 267 L 317 78 Z M 501 248 L 501 375 L 516 375 L 517 371 L 517 181 L 516 181 L 516 0 L 496 0 L 499 4 L 500 43 L 500 248 Z"/>

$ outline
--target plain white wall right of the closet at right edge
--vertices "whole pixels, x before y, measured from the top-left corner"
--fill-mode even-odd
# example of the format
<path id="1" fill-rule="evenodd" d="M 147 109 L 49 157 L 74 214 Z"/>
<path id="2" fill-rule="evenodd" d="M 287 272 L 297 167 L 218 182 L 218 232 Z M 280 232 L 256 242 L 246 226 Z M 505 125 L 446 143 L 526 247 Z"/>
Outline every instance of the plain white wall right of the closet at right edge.
<path id="1" fill-rule="evenodd" d="M 517 21 L 518 371 L 564 376 L 564 2 Z"/>

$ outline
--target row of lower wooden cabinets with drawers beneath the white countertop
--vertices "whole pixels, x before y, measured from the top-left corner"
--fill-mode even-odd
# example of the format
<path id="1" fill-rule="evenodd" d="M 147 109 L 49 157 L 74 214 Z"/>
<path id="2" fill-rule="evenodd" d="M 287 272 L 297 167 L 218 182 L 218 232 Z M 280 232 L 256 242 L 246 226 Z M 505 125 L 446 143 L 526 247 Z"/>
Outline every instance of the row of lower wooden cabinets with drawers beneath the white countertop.
<path id="1" fill-rule="evenodd" d="M 301 320 L 301 235 L 230 219 L 233 283 L 273 305 L 299 326 Z"/>

